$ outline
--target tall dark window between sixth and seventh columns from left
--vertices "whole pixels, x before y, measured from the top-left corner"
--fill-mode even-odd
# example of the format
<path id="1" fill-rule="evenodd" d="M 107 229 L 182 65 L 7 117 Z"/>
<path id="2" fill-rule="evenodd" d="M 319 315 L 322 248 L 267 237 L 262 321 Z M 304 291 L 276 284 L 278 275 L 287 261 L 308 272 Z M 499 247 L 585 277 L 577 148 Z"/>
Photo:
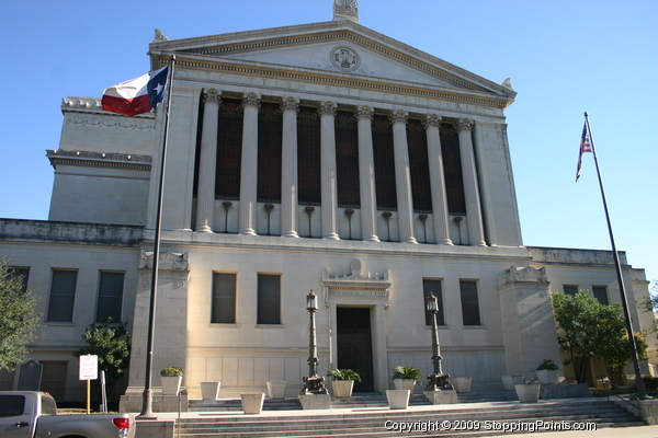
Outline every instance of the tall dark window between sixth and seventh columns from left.
<path id="1" fill-rule="evenodd" d="M 409 169 L 411 172 L 411 193 L 413 210 L 432 211 L 432 191 L 430 185 L 430 165 L 428 160 L 428 136 L 418 119 L 407 124 L 409 142 Z"/>

